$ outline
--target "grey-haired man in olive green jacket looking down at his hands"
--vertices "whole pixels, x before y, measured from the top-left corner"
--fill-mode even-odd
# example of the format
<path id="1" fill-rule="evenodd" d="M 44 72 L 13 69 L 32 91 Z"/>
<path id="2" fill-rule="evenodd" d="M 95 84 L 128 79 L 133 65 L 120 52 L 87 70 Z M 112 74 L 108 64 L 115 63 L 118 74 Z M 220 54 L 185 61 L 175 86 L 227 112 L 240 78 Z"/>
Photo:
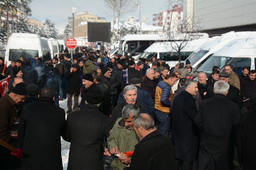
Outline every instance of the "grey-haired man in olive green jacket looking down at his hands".
<path id="1" fill-rule="evenodd" d="M 139 107 L 134 104 L 127 104 L 123 107 L 122 117 L 117 119 L 115 125 L 110 130 L 107 144 L 110 154 L 120 154 L 115 156 L 112 162 L 113 170 L 122 170 L 131 162 L 131 158 L 123 156 L 122 153 L 134 151 L 134 146 L 139 142 L 139 138 L 133 129 L 133 118 L 139 114 Z"/>

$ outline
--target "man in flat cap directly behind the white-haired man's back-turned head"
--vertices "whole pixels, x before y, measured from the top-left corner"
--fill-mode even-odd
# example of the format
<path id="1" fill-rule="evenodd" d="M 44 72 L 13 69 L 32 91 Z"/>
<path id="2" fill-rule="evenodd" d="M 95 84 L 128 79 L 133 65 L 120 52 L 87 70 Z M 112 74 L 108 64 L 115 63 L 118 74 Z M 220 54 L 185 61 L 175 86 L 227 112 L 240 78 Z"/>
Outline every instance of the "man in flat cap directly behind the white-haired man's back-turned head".
<path id="1" fill-rule="evenodd" d="M 229 74 L 227 72 L 220 72 L 219 81 L 228 83 L 228 80 L 229 80 Z M 207 93 L 205 95 L 205 98 L 212 98 L 214 96 L 213 89 L 214 89 L 214 84 L 209 85 L 209 87 L 207 89 Z M 241 107 L 243 106 L 243 99 L 241 98 L 239 93 L 240 93 L 240 91 L 238 88 L 229 84 L 229 89 L 228 89 L 228 93 L 226 96 L 229 101 L 236 103 L 239 106 L 239 108 L 241 109 Z"/>

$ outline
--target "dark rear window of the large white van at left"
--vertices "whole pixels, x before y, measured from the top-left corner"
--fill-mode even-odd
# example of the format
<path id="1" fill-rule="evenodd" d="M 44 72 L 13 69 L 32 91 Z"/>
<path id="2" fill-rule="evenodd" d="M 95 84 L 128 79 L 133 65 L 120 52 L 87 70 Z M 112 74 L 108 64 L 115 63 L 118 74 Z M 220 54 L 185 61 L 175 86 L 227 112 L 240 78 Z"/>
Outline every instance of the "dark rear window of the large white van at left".
<path id="1" fill-rule="evenodd" d="M 17 50 L 10 49 L 9 51 L 9 61 L 15 59 L 19 59 L 20 56 L 24 56 L 24 58 L 34 58 L 38 56 L 38 50 Z"/>

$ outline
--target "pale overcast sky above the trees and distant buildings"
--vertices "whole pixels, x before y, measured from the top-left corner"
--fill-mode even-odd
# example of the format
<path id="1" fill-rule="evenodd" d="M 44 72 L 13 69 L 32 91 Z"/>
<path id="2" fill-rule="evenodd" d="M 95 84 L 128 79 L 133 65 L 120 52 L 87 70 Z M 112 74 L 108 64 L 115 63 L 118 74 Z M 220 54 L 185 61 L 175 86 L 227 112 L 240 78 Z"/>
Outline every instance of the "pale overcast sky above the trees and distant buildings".
<path id="1" fill-rule="evenodd" d="M 55 23 L 55 27 L 63 32 L 68 23 L 68 16 L 72 16 L 71 8 L 77 8 L 77 12 L 88 11 L 97 16 L 105 17 L 106 22 L 110 22 L 112 13 L 104 3 L 104 0 L 33 0 L 30 4 L 32 16 L 39 21 L 44 21 L 49 18 Z M 141 0 L 141 18 L 147 17 L 147 23 L 151 24 L 152 14 L 167 10 L 167 0 Z M 28 18 L 32 18 L 29 16 Z M 42 16 L 42 17 L 39 17 Z M 121 19 L 126 19 L 129 16 L 138 17 L 138 10 L 134 8 L 130 13 L 122 14 Z"/>

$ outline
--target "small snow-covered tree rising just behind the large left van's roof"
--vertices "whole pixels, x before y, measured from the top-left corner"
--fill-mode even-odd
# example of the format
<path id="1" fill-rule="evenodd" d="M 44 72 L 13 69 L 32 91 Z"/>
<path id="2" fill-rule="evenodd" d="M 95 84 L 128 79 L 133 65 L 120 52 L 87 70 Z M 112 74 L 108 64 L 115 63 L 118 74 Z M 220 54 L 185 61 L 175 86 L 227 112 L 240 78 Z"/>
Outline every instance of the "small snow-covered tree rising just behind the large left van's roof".
<path id="1" fill-rule="evenodd" d="M 55 28 L 55 25 L 52 21 L 50 21 L 50 19 L 46 19 L 44 22 L 44 25 L 42 27 L 42 32 L 40 35 L 41 37 L 46 37 L 46 38 L 57 38 L 58 33 L 57 30 Z"/>

